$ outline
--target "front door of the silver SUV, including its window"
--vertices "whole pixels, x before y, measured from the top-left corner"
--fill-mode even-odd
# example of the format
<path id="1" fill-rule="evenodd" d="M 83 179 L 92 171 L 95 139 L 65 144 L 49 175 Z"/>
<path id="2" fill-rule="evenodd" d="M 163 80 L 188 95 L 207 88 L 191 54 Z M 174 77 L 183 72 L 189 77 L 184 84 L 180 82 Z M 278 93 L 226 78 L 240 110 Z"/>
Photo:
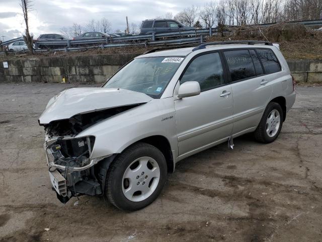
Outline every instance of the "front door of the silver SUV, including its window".
<path id="1" fill-rule="evenodd" d="M 179 159 L 224 141 L 233 124 L 232 90 L 219 52 L 195 57 L 180 84 L 187 81 L 199 82 L 201 93 L 175 100 Z"/>

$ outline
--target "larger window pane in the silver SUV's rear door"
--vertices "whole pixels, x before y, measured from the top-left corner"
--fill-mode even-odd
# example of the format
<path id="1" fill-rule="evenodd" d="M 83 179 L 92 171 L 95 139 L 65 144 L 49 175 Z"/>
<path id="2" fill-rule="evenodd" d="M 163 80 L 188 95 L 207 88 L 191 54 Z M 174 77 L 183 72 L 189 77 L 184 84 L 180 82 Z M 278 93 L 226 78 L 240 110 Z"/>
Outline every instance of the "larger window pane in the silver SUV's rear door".
<path id="1" fill-rule="evenodd" d="M 256 76 L 250 52 L 247 49 L 224 51 L 231 81 L 238 81 Z"/>

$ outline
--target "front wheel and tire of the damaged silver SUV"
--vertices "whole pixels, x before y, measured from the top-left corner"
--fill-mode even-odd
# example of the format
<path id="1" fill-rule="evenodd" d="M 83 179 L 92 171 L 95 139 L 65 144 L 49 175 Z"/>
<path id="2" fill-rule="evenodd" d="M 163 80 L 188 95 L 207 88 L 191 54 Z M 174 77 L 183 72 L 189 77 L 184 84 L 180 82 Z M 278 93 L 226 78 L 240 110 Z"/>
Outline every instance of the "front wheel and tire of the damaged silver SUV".
<path id="1" fill-rule="evenodd" d="M 121 210 L 138 210 L 152 203 L 167 179 L 167 162 L 156 147 L 137 143 L 111 164 L 106 180 L 109 201 Z"/>

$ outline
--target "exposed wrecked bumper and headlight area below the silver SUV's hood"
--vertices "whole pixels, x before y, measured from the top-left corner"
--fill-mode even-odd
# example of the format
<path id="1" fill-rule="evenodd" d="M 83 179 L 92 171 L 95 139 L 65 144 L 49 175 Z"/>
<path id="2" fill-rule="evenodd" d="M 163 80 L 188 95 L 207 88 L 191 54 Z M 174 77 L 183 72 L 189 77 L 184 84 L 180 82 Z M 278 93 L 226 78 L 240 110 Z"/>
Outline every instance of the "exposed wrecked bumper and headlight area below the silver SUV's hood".
<path id="1" fill-rule="evenodd" d="M 71 197 L 78 195 L 103 194 L 94 165 L 106 157 L 91 159 L 94 143 L 94 136 L 50 137 L 46 134 L 44 148 L 50 181 L 61 202 L 66 203 Z"/>

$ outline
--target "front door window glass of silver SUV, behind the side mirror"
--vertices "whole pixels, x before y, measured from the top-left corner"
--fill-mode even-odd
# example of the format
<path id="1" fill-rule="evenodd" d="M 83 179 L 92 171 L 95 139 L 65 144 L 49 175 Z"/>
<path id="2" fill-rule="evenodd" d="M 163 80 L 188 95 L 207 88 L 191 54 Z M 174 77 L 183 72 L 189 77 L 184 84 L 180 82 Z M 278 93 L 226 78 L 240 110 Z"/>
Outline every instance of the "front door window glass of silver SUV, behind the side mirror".
<path id="1" fill-rule="evenodd" d="M 224 84 L 219 53 L 204 54 L 195 58 L 181 78 L 180 84 L 189 81 L 199 82 L 201 91 Z"/>

